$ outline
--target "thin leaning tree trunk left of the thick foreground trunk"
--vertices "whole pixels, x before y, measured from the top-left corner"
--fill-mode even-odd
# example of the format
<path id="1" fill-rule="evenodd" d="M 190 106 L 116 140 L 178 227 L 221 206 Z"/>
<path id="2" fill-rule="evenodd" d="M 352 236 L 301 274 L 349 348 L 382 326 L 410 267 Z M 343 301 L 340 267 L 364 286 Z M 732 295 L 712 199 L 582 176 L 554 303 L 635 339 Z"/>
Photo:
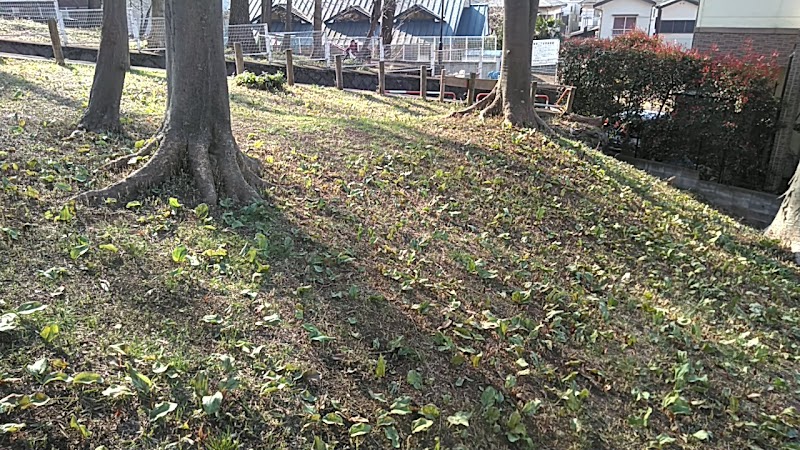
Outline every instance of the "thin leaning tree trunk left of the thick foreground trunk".
<path id="1" fill-rule="evenodd" d="M 100 50 L 89 94 L 89 108 L 79 128 L 87 131 L 121 130 L 119 104 L 128 70 L 128 14 L 125 0 L 106 0 L 103 5 L 103 28 Z"/>

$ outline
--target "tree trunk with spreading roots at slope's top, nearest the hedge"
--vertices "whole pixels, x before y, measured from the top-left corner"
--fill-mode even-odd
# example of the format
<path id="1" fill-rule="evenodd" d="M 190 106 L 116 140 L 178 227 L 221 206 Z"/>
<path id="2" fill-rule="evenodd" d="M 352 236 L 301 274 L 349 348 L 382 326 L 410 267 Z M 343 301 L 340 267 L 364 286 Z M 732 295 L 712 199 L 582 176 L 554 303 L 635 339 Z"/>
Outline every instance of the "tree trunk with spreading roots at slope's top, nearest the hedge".
<path id="1" fill-rule="evenodd" d="M 480 111 L 482 118 L 502 114 L 511 126 L 543 128 L 552 133 L 536 114 L 530 92 L 531 52 L 538 12 L 539 0 L 505 0 L 500 79 L 488 96 L 454 116 L 473 111 Z"/>

